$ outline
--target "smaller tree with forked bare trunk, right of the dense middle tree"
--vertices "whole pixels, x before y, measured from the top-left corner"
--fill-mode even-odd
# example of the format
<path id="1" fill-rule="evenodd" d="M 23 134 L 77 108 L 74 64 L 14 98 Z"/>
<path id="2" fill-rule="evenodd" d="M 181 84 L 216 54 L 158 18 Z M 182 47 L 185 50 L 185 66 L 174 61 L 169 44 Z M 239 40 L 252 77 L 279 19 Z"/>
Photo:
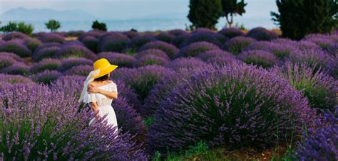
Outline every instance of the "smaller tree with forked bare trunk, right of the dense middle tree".
<path id="1" fill-rule="evenodd" d="M 237 0 L 222 0 L 223 16 L 227 19 L 227 25 L 231 28 L 233 23 L 233 16 L 239 14 L 242 16 L 245 13 L 245 6 L 247 4 L 244 0 L 237 2 Z"/>

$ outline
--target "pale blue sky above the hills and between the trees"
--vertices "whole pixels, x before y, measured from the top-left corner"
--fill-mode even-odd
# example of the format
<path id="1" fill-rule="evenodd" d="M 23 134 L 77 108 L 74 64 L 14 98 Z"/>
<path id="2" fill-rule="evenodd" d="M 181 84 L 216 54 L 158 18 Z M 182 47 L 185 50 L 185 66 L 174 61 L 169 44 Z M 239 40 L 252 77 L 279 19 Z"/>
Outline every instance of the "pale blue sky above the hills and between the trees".
<path id="1" fill-rule="evenodd" d="M 262 24 L 274 28 L 270 12 L 277 11 L 275 0 L 246 0 L 246 13 L 235 17 L 235 22 L 250 26 Z M 186 18 L 189 0 L 0 0 L 0 13 L 10 9 L 53 9 L 57 11 L 81 10 L 105 20 L 126 20 L 133 18 Z M 225 19 L 220 19 L 225 23 Z"/>

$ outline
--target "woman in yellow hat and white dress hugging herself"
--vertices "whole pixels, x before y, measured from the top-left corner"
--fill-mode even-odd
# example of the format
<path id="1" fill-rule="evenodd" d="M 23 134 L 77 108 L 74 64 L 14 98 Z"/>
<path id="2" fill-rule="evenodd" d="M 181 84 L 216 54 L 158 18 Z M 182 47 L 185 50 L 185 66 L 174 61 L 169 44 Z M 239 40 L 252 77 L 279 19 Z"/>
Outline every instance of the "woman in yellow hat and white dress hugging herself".
<path id="1" fill-rule="evenodd" d="M 94 70 L 88 74 L 86 81 L 83 83 L 83 90 L 78 101 L 83 101 L 91 105 L 95 117 L 90 121 L 91 124 L 96 118 L 106 116 L 108 126 L 116 126 L 118 123 L 111 103 L 113 99 L 118 99 L 118 89 L 116 84 L 108 80 L 110 73 L 118 66 L 111 65 L 108 60 L 102 58 L 93 64 Z"/>

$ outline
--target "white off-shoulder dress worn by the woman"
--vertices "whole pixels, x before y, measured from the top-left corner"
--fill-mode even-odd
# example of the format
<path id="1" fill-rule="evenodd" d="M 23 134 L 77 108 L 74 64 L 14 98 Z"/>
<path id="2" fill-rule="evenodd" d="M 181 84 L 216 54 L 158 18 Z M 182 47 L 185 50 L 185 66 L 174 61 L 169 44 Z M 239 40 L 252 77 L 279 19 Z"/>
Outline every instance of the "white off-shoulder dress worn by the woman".
<path id="1" fill-rule="evenodd" d="M 114 82 L 111 82 L 109 84 L 103 85 L 101 87 L 97 87 L 98 89 L 103 89 L 105 91 L 118 91 L 116 84 Z M 83 100 L 86 100 L 88 103 L 90 102 L 96 102 L 98 104 L 98 115 L 100 117 L 105 116 L 108 114 L 105 118 L 105 121 L 107 121 L 107 125 L 110 126 L 116 126 L 116 132 L 118 131 L 118 121 L 116 120 L 116 114 L 113 109 L 113 106 L 111 106 L 111 103 L 113 102 L 113 99 L 108 98 L 107 96 L 103 94 L 88 94 L 86 93 L 83 96 Z M 89 125 L 95 120 L 94 117 L 89 122 Z"/>

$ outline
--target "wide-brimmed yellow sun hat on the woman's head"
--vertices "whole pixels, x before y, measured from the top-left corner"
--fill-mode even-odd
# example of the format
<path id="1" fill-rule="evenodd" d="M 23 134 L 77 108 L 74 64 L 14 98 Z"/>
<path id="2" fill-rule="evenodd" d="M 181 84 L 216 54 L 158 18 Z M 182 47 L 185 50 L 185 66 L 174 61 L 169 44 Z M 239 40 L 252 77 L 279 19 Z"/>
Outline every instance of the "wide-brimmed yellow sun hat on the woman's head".
<path id="1" fill-rule="evenodd" d="M 100 70 L 100 73 L 97 74 L 94 78 L 102 77 L 103 75 L 109 74 L 113 72 L 118 66 L 117 65 L 111 65 L 111 63 L 108 62 L 105 58 L 101 58 L 99 60 L 96 60 L 93 64 L 94 70 Z"/>

